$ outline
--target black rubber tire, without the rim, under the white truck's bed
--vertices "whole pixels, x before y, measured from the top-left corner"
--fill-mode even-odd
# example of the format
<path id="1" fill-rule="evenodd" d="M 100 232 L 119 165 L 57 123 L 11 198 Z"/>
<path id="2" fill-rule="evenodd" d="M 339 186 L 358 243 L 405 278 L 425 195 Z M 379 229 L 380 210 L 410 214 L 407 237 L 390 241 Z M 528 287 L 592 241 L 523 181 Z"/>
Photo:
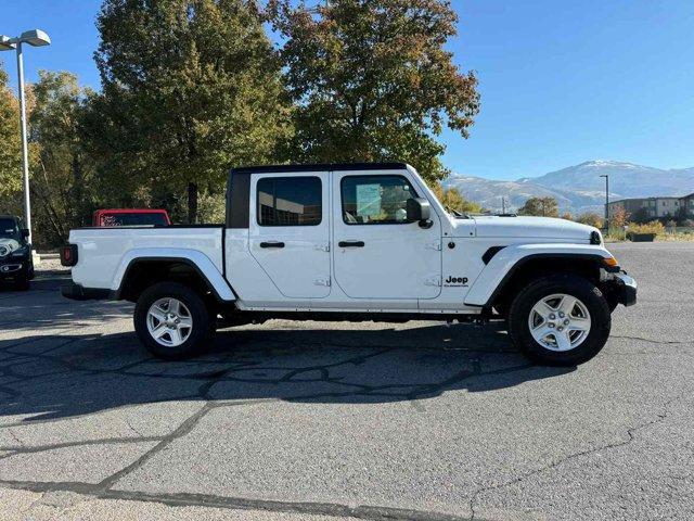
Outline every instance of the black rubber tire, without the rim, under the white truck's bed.
<path id="1" fill-rule="evenodd" d="M 150 307 L 158 300 L 177 298 L 188 307 L 192 328 L 189 336 L 177 346 L 159 344 L 147 329 Z M 191 288 L 178 282 L 158 282 L 142 292 L 134 307 L 134 330 L 144 347 L 157 358 L 180 360 L 203 352 L 209 344 L 215 330 L 211 316 L 203 298 Z"/>

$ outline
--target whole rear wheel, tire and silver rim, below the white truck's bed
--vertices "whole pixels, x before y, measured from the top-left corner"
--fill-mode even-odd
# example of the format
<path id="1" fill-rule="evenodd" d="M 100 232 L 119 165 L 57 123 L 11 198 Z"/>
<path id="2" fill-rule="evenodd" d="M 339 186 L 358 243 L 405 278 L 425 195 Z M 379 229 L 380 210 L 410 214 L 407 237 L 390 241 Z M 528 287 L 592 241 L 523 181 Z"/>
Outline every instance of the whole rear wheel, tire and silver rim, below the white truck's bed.
<path id="1" fill-rule="evenodd" d="M 201 296 L 178 282 L 158 282 L 142 292 L 134 308 L 140 342 L 158 358 L 181 359 L 209 344 L 214 317 Z"/>

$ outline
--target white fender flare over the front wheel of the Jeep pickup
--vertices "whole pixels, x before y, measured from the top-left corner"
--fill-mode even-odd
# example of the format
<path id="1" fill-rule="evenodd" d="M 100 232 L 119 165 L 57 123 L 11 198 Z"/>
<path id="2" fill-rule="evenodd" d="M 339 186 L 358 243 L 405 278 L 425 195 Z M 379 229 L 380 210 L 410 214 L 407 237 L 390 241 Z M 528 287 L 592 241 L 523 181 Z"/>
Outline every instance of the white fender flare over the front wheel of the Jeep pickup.
<path id="1" fill-rule="evenodd" d="M 580 258 L 602 263 L 611 258 L 602 245 L 593 244 L 511 244 L 500 250 L 485 266 L 465 295 L 468 306 L 491 305 L 503 284 L 524 264 L 536 258 Z"/>

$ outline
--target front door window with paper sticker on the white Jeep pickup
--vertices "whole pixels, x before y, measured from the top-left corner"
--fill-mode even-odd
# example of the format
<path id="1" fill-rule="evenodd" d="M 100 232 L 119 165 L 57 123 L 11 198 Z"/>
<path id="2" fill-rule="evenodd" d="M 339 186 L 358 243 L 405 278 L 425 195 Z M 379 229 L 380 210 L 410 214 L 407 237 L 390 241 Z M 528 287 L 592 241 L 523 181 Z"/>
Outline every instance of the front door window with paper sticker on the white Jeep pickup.
<path id="1" fill-rule="evenodd" d="M 347 225 L 406 224 L 407 201 L 417 196 L 402 176 L 347 176 L 340 187 Z"/>

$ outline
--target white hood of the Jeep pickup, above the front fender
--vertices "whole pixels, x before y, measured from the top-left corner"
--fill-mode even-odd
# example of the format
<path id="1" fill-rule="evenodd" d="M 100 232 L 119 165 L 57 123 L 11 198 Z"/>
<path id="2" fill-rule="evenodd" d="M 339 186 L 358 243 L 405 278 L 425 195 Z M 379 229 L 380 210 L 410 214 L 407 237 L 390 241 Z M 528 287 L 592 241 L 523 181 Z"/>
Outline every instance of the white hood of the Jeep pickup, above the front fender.
<path id="1" fill-rule="evenodd" d="M 597 231 L 592 226 L 552 217 L 475 216 L 476 237 L 507 237 L 557 239 L 560 241 L 590 242 Z"/>

